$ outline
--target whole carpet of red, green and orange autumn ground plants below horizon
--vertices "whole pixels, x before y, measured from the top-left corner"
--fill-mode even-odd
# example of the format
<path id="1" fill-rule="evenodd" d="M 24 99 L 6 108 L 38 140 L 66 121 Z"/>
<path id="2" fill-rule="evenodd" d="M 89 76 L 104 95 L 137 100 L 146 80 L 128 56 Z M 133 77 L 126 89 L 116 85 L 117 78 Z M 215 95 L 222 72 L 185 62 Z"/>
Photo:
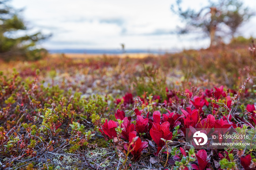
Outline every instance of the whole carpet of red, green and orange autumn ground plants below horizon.
<path id="1" fill-rule="evenodd" d="M 1 62 L 0 169 L 255 169 L 256 62 L 226 48 Z"/>

